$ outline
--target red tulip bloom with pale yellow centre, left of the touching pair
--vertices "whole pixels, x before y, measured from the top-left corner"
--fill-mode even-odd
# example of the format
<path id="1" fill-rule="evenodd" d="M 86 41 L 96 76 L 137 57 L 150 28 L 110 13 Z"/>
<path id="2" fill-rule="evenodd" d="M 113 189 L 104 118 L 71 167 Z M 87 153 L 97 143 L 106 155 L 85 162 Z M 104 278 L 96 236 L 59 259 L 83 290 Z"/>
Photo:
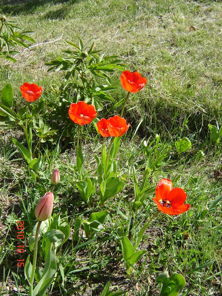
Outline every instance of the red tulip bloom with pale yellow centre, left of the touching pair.
<path id="1" fill-rule="evenodd" d="M 69 107 L 69 117 L 74 123 L 80 126 L 89 124 L 96 117 L 97 112 L 93 105 L 88 105 L 83 101 L 71 104 Z"/>

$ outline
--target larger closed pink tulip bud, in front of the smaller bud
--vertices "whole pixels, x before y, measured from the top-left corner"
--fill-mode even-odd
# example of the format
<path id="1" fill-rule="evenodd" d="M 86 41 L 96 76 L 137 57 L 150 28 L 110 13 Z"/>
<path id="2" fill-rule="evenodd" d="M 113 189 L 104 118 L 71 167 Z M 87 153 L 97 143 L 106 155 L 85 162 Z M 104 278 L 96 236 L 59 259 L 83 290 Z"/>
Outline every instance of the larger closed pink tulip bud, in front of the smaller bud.
<path id="1" fill-rule="evenodd" d="M 52 214 L 54 195 L 52 192 L 46 193 L 38 202 L 35 208 L 36 218 L 40 221 L 45 221 Z"/>

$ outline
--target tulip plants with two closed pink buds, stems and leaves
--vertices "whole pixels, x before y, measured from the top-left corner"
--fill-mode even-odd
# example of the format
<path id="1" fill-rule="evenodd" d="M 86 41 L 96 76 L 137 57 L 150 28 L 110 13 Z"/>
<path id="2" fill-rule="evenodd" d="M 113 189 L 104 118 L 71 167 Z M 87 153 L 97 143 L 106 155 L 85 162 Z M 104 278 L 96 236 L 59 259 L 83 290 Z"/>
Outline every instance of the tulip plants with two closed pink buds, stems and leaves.
<path id="1" fill-rule="evenodd" d="M 56 250 L 57 247 L 64 244 L 70 235 L 70 226 L 67 225 L 67 219 L 61 219 L 60 213 L 54 214 L 51 217 L 53 210 L 54 194 L 52 190 L 60 180 L 59 170 L 55 169 L 51 175 L 52 189 L 42 197 L 35 208 L 35 216 L 38 222 L 33 228 L 32 235 L 29 240 L 30 251 L 33 251 L 33 264 L 30 262 L 30 255 L 25 263 L 24 273 L 29 283 L 29 295 L 30 296 L 43 296 L 46 293 L 46 289 L 51 284 L 54 274 L 57 271 L 56 263 Z M 41 234 L 41 252 L 43 253 L 45 260 L 44 269 L 38 267 L 37 254 L 38 254 L 38 241 Z M 41 262 L 40 262 L 41 264 Z M 34 286 L 34 280 L 37 284 Z"/>

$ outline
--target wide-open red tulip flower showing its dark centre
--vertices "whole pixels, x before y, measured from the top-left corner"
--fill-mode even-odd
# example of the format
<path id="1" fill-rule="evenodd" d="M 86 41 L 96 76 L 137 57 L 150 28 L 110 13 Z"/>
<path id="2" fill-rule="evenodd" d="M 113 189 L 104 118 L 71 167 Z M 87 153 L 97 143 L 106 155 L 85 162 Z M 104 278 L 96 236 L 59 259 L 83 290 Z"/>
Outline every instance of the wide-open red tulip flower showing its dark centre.
<path id="1" fill-rule="evenodd" d="M 182 188 L 173 188 L 169 179 L 161 179 L 156 188 L 153 200 L 157 208 L 165 214 L 179 215 L 189 210 L 190 205 L 184 204 L 186 193 Z"/>

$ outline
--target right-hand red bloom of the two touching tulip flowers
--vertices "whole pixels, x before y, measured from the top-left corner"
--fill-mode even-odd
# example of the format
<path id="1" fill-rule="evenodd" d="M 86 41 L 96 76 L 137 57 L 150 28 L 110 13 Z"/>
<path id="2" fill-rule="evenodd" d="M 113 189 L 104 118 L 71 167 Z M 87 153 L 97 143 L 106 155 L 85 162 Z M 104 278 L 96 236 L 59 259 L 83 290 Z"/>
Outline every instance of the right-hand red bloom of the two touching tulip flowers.
<path id="1" fill-rule="evenodd" d="M 126 124 L 126 119 L 115 115 L 107 120 L 107 127 L 110 136 L 121 137 L 128 131 L 129 123 Z"/>

